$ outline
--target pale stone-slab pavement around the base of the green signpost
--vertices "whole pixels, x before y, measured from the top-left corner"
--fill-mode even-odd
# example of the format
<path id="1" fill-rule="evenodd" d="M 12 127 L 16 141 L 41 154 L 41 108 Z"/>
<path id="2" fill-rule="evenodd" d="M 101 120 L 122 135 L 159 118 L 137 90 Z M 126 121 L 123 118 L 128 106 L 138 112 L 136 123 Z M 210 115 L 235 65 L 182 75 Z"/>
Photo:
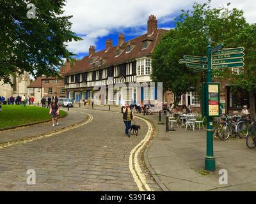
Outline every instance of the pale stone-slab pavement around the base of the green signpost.
<path id="1" fill-rule="evenodd" d="M 108 110 L 108 106 L 95 106 Z M 112 111 L 120 108 L 111 106 Z M 139 114 L 143 117 L 143 114 Z M 158 136 L 146 151 L 148 168 L 164 190 L 170 191 L 256 191 L 255 149 L 248 149 L 244 139 L 230 138 L 221 141 L 214 138 L 216 171 L 204 171 L 206 131 L 184 128 L 166 132 L 165 124 L 157 125 L 158 114 L 144 116 L 156 124 Z M 165 123 L 166 116 L 162 121 Z M 228 172 L 228 184 L 220 185 L 219 170 Z"/>

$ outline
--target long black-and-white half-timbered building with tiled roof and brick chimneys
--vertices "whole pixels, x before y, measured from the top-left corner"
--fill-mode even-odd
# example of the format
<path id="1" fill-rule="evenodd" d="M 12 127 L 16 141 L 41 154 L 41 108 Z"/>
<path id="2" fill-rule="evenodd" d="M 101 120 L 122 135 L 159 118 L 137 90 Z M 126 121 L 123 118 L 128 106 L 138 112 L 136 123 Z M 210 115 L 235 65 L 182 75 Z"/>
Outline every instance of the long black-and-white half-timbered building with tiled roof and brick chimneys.
<path id="1" fill-rule="evenodd" d="M 152 82 L 150 78 L 151 55 L 161 36 L 167 32 L 157 29 L 157 19 L 150 15 L 147 33 L 129 41 L 125 41 L 124 34 L 118 36 L 118 45 L 113 47 L 111 39 L 106 41 L 105 50 L 95 52 L 92 45 L 89 55 L 78 61 L 76 65 L 65 73 L 65 89 L 67 98 L 80 102 L 84 98 L 93 98 L 97 91 L 93 87 L 109 84 L 129 84 Z M 131 84 L 131 83 L 130 83 Z M 119 87 L 114 89 L 114 98 L 107 96 L 106 102 L 129 101 L 136 103 L 141 100 L 157 99 L 154 87 Z M 97 101 L 95 101 L 97 103 Z M 99 102 L 99 101 L 98 101 Z M 107 102 L 107 103 L 108 103 Z"/>

